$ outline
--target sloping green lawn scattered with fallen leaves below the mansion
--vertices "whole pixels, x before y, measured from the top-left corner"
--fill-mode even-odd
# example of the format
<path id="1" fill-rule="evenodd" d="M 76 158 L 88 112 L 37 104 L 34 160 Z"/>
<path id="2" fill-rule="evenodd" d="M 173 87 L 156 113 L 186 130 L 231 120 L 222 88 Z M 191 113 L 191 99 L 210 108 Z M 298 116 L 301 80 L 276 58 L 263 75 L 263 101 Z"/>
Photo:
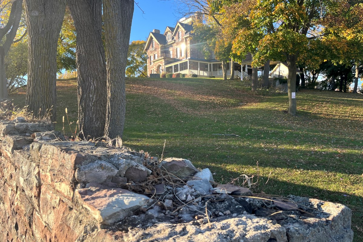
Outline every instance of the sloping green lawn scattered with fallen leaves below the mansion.
<path id="1" fill-rule="evenodd" d="M 293 117 L 287 95 L 254 95 L 240 81 L 127 78 L 126 85 L 124 145 L 161 156 L 166 140 L 164 157 L 208 167 L 218 182 L 254 175 L 255 193 L 348 205 L 354 241 L 363 241 L 363 95 L 302 90 Z M 62 130 L 66 107 L 77 119 L 77 83 L 57 87 Z M 11 96 L 20 107 L 24 92 Z"/>

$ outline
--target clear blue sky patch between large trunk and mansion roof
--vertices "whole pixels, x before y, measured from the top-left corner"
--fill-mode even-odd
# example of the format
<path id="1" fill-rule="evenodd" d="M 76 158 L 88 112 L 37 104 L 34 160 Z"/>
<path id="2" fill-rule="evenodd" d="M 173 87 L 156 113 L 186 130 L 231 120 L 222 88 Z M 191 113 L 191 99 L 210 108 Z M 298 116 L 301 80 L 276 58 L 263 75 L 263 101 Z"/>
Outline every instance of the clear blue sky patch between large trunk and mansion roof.
<path id="1" fill-rule="evenodd" d="M 153 29 L 159 29 L 161 33 L 164 33 L 167 25 L 174 26 L 179 20 L 175 13 L 174 0 L 136 0 L 136 3 L 144 14 L 135 4 L 130 42 L 146 40 Z"/>

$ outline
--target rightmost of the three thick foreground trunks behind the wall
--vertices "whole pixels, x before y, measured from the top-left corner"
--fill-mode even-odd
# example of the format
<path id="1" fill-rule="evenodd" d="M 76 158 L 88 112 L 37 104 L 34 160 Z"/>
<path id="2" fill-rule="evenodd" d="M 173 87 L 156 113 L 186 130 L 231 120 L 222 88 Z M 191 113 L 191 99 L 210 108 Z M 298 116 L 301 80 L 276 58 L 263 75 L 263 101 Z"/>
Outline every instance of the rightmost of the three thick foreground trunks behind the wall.
<path id="1" fill-rule="evenodd" d="M 122 137 L 125 124 L 125 70 L 134 0 L 103 0 L 107 57 L 107 115 L 105 135 Z"/>

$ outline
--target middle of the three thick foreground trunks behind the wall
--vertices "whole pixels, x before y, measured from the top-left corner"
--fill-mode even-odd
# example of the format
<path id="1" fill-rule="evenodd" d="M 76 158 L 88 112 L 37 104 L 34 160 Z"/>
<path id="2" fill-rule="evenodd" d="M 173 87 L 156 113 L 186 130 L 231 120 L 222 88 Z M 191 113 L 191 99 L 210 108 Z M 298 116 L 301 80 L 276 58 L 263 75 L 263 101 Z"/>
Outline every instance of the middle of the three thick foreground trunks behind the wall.
<path id="1" fill-rule="evenodd" d="M 102 1 L 68 0 L 77 31 L 78 120 L 86 139 L 102 137 L 107 110 Z"/>

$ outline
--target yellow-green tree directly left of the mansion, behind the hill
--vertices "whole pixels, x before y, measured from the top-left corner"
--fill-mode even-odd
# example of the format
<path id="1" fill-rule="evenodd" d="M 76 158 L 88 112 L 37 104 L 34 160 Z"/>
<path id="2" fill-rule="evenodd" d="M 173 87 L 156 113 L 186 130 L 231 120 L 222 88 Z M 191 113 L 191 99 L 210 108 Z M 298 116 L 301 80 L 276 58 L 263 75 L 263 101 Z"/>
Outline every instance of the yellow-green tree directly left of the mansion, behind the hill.
<path id="1" fill-rule="evenodd" d="M 146 64 L 147 55 L 144 52 L 146 41 L 136 40 L 129 45 L 127 53 L 126 76 L 127 77 L 147 77 Z"/>

